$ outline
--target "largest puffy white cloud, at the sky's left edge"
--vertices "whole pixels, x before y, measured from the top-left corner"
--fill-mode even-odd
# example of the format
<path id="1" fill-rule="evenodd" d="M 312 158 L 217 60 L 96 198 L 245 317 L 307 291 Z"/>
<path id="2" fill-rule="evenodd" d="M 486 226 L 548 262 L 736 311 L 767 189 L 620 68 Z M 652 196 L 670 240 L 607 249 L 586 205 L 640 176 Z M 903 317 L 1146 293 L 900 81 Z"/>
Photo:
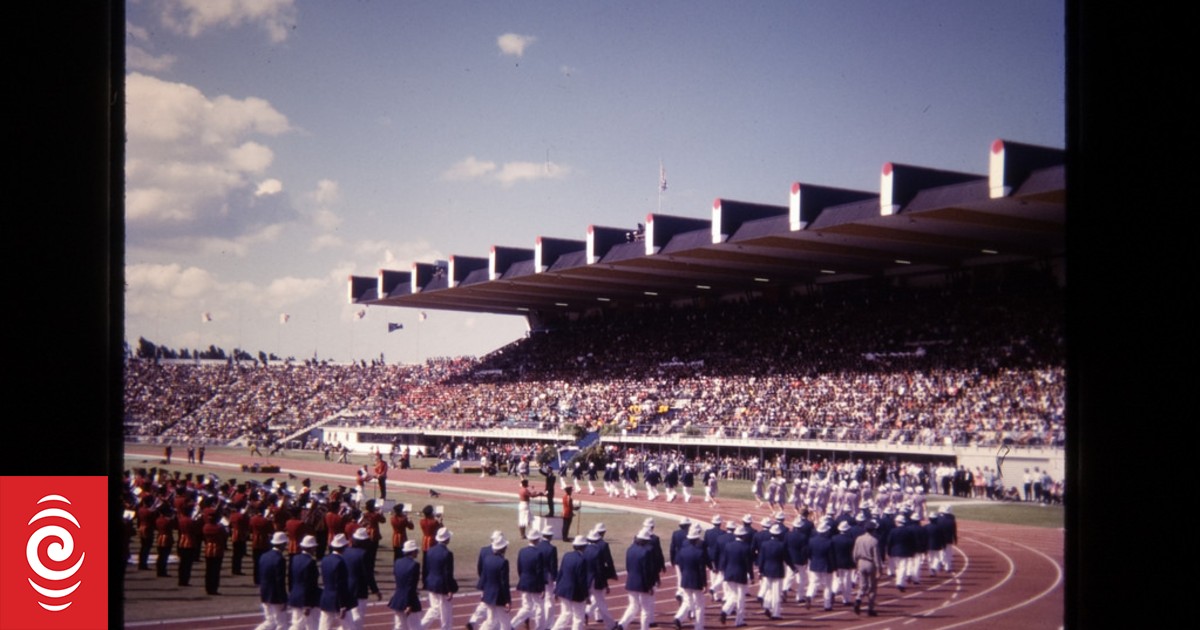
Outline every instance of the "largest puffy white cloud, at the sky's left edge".
<path id="1" fill-rule="evenodd" d="M 262 98 L 208 98 L 182 83 L 126 77 L 126 218 L 131 226 L 186 226 L 226 209 L 230 196 L 262 196 L 282 184 L 256 184 L 274 151 L 247 139 L 280 134 L 287 118 Z"/>

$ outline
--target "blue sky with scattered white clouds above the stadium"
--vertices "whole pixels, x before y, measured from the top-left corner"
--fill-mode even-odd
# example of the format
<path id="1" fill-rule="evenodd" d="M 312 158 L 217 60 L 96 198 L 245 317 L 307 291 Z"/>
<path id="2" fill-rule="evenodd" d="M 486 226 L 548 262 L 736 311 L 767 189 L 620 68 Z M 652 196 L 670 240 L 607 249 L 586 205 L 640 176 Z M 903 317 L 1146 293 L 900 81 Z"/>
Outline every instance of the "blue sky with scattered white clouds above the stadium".
<path id="1" fill-rule="evenodd" d="M 523 319 L 347 302 L 408 269 L 883 162 L 1064 146 L 1055 1 L 131 0 L 126 338 L 389 362 Z M 211 320 L 205 322 L 208 313 Z M 281 324 L 281 314 L 289 319 Z M 388 334 L 388 323 L 404 330 Z"/>

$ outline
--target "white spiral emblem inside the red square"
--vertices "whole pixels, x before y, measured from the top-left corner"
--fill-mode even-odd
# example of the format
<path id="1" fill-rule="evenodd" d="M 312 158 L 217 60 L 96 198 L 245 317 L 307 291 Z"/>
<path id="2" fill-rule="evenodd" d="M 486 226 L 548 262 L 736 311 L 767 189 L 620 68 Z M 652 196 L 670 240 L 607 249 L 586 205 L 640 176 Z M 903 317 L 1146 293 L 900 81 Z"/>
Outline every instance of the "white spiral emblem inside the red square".
<path id="1" fill-rule="evenodd" d="M 79 521 L 71 514 L 71 502 L 66 497 L 47 494 L 38 499 L 37 504 L 44 506 L 29 520 L 29 524 L 37 523 L 38 527 L 25 544 L 25 559 L 38 580 L 32 577 L 28 580 L 29 586 L 40 595 L 37 604 L 48 611 L 59 612 L 71 606 L 71 594 L 83 583 L 83 580 L 76 578 L 76 574 L 83 566 L 86 554 L 80 552 L 79 559 L 66 569 L 50 569 L 41 554 L 42 542 L 50 540 L 46 546 L 46 557 L 54 562 L 54 566 L 62 566 L 70 563 L 74 554 L 74 536 L 62 524 L 71 523 L 77 532 L 82 528 Z"/>

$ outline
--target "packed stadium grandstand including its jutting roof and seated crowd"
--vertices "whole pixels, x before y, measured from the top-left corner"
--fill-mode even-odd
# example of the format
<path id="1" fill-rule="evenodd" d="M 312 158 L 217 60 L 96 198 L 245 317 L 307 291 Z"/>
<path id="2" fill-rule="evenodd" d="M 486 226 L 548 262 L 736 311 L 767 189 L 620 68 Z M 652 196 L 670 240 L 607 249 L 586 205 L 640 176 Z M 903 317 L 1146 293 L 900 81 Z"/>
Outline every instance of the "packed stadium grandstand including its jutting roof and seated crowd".
<path id="1" fill-rule="evenodd" d="M 787 205 L 716 199 L 708 217 L 353 276 L 354 304 L 518 314 L 529 332 L 408 366 L 131 359 L 126 436 L 968 467 L 1003 451 L 1061 479 L 1064 154 L 986 154 L 986 174 L 887 163 L 878 192 L 799 182 Z"/>

